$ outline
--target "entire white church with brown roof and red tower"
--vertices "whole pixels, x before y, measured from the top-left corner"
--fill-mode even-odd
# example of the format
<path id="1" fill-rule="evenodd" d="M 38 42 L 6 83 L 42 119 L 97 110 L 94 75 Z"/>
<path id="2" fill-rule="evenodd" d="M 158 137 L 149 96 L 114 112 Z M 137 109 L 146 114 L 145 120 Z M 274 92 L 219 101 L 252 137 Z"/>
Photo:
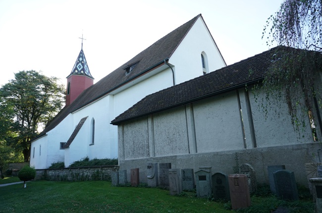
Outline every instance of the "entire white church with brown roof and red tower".
<path id="1" fill-rule="evenodd" d="M 64 161 L 67 167 L 86 156 L 118 158 L 111 120 L 149 94 L 224 66 L 201 14 L 95 84 L 82 49 L 67 77 L 66 106 L 31 141 L 30 165 L 41 169 Z"/>

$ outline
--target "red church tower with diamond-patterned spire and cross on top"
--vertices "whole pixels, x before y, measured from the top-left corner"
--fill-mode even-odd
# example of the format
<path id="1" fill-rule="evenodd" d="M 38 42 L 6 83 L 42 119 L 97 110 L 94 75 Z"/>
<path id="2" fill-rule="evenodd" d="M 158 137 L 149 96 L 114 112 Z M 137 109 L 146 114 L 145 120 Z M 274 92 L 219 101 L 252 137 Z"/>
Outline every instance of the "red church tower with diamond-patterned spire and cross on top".
<path id="1" fill-rule="evenodd" d="M 67 76 L 66 106 L 69 106 L 79 94 L 94 84 L 94 78 L 90 73 L 83 51 L 83 36 L 80 39 L 82 39 L 82 49 L 71 73 Z"/>

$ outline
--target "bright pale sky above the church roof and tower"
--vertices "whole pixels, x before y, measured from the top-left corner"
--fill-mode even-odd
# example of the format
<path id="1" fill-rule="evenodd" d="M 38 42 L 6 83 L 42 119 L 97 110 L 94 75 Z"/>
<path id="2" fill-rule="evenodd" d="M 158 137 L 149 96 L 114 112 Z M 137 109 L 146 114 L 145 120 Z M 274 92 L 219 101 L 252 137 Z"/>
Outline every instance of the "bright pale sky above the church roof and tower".
<path id="1" fill-rule="evenodd" d="M 282 0 L 0 0 L 0 85 L 20 70 L 66 84 L 83 50 L 94 83 L 198 14 L 226 63 L 268 50 L 262 32 Z"/>

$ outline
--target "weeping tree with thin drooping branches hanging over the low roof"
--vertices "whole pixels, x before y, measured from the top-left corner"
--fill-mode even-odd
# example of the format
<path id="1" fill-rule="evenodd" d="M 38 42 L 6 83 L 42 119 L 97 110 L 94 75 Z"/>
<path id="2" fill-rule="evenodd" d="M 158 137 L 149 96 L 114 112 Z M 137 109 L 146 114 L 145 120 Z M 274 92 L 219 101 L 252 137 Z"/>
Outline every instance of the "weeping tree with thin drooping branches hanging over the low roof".
<path id="1" fill-rule="evenodd" d="M 321 123 L 322 88 L 317 79 L 321 79 L 322 71 L 322 1 L 284 0 L 280 9 L 268 18 L 264 38 L 268 47 L 276 44 L 290 47 L 277 48 L 272 58 L 279 62 L 263 81 L 267 97 L 287 103 L 297 131 L 305 128 L 304 114 L 310 117 L 312 127 L 314 120 Z"/>

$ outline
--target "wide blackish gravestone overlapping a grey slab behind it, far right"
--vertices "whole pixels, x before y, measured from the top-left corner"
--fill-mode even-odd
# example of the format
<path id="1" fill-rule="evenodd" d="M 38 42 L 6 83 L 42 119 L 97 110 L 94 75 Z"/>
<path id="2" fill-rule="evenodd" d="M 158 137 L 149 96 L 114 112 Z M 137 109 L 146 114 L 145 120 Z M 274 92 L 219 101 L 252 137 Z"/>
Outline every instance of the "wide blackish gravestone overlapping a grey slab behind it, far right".
<path id="1" fill-rule="evenodd" d="M 298 192 L 294 172 L 278 170 L 273 173 L 276 195 L 283 200 L 298 200 Z"/>

